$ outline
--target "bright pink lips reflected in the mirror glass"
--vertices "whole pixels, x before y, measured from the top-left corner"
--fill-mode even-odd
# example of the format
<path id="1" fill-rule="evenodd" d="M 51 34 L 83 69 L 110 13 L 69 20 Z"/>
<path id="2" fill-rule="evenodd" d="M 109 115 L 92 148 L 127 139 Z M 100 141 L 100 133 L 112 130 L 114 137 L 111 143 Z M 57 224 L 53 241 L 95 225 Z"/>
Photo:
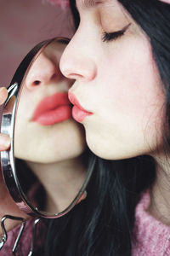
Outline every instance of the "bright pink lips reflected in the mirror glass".
<path id="1" fill-rule="evenodd" d="M 71 118 L 71 102 L 66 92 L 58 92 L 42 99 L 31 121 L 40 125 L 54 125 Z"/>

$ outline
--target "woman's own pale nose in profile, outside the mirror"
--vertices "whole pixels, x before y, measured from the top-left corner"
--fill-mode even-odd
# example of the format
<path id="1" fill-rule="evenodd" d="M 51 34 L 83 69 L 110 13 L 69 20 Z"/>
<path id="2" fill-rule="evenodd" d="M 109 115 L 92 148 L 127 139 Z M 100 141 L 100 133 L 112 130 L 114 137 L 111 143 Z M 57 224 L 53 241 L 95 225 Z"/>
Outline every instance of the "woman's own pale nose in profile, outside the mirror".
<path id="1" fill-rule="evenodd" d="M 91 81 L 97 73 L 93 55 L 88 53 L 86 47 L 82 48 L 81 42 L 77 43 L 77 40 L 72 38 L 66 46 L 59 62 L 60 71 L 68 79 Z"/>

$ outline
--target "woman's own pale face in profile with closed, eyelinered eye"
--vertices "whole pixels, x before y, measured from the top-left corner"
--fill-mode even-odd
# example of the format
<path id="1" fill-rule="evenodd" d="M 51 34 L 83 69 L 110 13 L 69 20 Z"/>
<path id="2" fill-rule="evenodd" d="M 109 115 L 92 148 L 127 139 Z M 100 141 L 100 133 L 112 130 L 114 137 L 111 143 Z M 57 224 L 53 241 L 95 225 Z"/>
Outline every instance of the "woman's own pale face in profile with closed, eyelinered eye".
<path id="1" fill-rule="evenodd" d="M 73 117 L 102 158 L 154 154 L 164 95 L 150 40 L 116 0 L 88 2 L 77 0 L 81 22 L 60 61 L 65 77 L 76 79 Z"/>

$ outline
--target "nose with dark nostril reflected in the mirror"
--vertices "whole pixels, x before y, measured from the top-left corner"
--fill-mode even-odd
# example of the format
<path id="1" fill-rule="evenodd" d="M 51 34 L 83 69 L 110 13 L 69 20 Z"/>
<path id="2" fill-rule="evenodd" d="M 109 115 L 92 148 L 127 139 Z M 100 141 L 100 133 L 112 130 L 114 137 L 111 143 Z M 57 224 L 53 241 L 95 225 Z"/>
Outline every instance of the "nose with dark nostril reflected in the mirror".
<path id="1" fill-rule="evenodd" d="M 57 63 L 54 63 L 43 53 L 37 57 L 32 64 L 30 71 L 27 73 L 26 86 L 28 89 L 36 89 L 40 85 L 48 85 L 61 79 Z"/>

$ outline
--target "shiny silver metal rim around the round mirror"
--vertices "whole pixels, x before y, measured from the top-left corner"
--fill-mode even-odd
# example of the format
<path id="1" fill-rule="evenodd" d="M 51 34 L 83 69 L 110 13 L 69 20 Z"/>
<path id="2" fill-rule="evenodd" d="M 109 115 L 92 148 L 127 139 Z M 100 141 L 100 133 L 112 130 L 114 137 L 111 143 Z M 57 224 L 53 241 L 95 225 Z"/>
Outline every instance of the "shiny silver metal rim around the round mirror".
<path id="1" fill-rule="evenodd" d="M 26 214 L 41 217 L 41 218 L 59 218 L 65 215 L 67 212 L 71 211 L 77 202 L 80 200 L 81 196 L 85 192 L 88 185 L 88 181 L 92 176 L 94 171 L 94 166 L 96 162 L 96 157 L 94 156 L 89 163 L 88 172 L 82 188 L 79 190 L 75 199 L 71 204 L 65 208 L 64 211 L 50 214 L 48 212 L 40 211 L 37 207 L 33 207 L 31 202 L 26 198 L 25 193 L 20 187 L 20 183 L 17 177 L 15 158 L 14 158 L 14 123 L 16 118 L 17 103 L 20 99 L 20 91 L 22 90 L 22 81 L 26 78 L 26 74 L 29 71 L 29 67 L 37 59 L 37 56 L 41 54 L 42 50 L 45 49 L 48 44 L 52 43 L 54 40 L 58 39 L 59 42 L 67 44 L 70 39 L 68 38 L 53 38 L 47 41 L 43 41 L 37 44 L 31 51 L 26 55 L 24 60 L 20 63 L 14 73 L 14 78 L 11 84 L 8 86 L 8 98 L 3 105 L 3 116 L 1 123 L 1 132 L 7 134 L 11 138 L 11 147 L 9 150 L 1 152 L 1 166 L 3 171 L 3 179 L 6 183 L 9 194 L 12 196 L 16 205 L 26 212 Z"/>

